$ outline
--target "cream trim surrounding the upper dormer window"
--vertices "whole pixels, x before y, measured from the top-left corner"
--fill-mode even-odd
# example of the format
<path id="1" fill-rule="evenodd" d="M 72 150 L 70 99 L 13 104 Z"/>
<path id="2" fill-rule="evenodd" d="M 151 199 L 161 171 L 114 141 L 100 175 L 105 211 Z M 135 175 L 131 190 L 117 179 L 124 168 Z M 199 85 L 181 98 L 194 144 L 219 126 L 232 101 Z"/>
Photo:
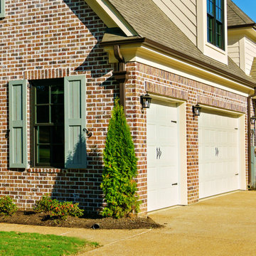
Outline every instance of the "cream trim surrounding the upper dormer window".
<path id="1" fill-rule="evenodd" d="M 214 60 L 228 65 L 228 28 L 227 28 L 227 0 L 224 0 L 224 49 L 222 50 L 207 41 L 207 2 L 197 0 L 197 32 L 198 48 L 201 52 Z"/>

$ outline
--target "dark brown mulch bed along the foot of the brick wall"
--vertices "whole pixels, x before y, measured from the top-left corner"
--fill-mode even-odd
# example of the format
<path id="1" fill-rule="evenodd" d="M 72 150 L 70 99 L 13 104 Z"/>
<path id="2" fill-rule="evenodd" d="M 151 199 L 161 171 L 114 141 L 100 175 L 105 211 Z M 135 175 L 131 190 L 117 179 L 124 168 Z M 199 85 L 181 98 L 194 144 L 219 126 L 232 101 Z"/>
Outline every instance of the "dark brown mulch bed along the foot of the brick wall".
<path id="1" fill-rule="evenodd" d="M 101 218 L 99 215 L 88 215 L 82 218 L 68 217 L 68 220 L 59 221 L 50 218 L 48 213 L 36 213 L 33 210 L 18 210 L 12 216 L 0 216 L 0 223 L 14 223 L 25 225 L 43 225 L 65 228 L 100 228 L 100 229 L 140 229 L 161 228 L 151 218 Z"/>

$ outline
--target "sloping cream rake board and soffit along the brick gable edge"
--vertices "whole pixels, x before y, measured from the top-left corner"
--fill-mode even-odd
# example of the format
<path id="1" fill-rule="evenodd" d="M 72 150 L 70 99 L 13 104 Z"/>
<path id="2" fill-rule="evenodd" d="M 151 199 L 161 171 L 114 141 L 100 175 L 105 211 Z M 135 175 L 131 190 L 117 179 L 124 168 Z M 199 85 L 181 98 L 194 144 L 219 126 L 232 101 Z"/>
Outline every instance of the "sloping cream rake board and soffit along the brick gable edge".
<path id="1" fill-rule="evenodd" d="M 126 36 L 137 36 L 137 32 L 106 0 L 85 0 L 109 28 L 119 27 Z"/>

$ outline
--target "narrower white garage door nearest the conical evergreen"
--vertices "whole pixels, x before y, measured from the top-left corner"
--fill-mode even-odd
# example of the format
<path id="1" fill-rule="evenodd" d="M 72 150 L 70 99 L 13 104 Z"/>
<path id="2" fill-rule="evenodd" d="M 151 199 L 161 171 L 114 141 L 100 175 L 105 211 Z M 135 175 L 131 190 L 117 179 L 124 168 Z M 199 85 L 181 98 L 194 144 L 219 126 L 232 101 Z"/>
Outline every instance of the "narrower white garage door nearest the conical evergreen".
<path id="1" fill-rule="evenodd" d="M 153 101 L 146 110 L 148 210 L 178 204 L 177 108 Z"/>

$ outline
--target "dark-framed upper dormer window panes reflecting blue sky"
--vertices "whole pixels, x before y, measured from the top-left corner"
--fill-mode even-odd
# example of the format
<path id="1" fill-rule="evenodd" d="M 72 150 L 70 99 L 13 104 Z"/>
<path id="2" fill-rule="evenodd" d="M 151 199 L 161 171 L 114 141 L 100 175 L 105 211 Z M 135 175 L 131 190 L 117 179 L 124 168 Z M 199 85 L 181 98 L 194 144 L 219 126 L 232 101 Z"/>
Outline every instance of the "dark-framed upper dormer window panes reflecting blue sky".
<path id="1" fill-rule="evenodd" d="M 207 0 L 207 41 L 224 50 L 224 0 Z"/>

